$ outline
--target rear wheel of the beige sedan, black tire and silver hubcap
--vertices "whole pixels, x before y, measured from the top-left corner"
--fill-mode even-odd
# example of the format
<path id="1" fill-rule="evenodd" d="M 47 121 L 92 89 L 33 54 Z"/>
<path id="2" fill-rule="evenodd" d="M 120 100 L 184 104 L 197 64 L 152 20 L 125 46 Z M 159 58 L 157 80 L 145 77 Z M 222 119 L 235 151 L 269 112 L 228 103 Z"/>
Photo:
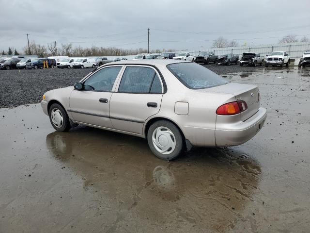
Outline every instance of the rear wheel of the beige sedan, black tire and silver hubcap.
<path id="1" fill-rule="evenodd" d="M 164 133 L 162 133 L 164 132 Z M 166 149 L 160 148 L 160 140 L 158 133 L 162 135 L 162 142 L 165 143 Z M 183 136 L 180 130 L 170 121 L 158 120 L 153 123 L 147 132 L 147 141 L 150 149 L 156 157 L 163 160 L 173 160 L 178 157 L 183 150 Z M 171 145 L 171 147 L 169 147 Z M 169 148 L 168 148 L 169 147 Z M 162 150 L 163 152 L 160 152 Z"/>

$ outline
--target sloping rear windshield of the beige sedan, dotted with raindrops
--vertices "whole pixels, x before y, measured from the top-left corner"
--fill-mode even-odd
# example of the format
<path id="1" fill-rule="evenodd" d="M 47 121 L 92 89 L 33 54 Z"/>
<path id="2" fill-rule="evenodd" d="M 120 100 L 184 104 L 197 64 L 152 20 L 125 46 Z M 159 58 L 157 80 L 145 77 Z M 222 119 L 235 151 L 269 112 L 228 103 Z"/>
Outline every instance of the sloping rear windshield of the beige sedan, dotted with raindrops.
<path id="1" fill-rule="evenodd" d="M 190 89 L 203 89 L 228 83 L 211 70 L 197 63 L 174 63 L 167 65 L 171 73 Z"/>

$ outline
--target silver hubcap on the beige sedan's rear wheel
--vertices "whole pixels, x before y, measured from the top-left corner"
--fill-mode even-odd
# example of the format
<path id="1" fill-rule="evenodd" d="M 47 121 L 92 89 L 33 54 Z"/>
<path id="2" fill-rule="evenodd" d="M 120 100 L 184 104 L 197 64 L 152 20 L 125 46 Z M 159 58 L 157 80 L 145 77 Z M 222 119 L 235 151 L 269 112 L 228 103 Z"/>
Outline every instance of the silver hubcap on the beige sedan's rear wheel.
<path id="1" fill-rule="evenodd" d="M 167 127 L 157 127 L 153 132 L 152 141 L 155 149 L 162 154 L 170 154 L 175 149 L 175 136 Z"/>

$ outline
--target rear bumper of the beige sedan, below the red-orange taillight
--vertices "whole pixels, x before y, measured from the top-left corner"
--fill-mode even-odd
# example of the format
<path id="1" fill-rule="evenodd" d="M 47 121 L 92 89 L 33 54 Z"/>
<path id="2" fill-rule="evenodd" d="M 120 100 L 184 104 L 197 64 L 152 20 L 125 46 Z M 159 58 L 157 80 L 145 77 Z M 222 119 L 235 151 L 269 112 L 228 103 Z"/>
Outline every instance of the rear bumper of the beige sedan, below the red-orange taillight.
<path id="1" fill-rule="evenodd" d="M 258 112 L 246 121 L 217 124 L 215 130 L 216 146 L 237 146 L 247 142 L 263 128 L 266 117 L 267 110 L 259 108 Z"/>

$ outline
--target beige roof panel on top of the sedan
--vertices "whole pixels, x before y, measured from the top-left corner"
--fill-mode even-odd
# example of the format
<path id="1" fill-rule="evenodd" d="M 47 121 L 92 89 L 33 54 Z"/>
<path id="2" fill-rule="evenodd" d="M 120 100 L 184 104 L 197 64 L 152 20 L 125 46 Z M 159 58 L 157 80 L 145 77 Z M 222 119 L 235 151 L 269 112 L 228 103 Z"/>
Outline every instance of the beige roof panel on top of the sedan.
<path id="1" fill-rule="evenodd" d="M 185 63 L 187 61 L 182 60 L 172 60 L 172 59 L 141 59 L 141 60 L 130 60 L 130 61 L 120 61 L 120 62 L 113 62 L 107 63 L 104 66 L 112 66 L 112 65 L 150 65 L 156 67 L 166 67 L 167 65 L 174 64 L 174 63 Z"/>

